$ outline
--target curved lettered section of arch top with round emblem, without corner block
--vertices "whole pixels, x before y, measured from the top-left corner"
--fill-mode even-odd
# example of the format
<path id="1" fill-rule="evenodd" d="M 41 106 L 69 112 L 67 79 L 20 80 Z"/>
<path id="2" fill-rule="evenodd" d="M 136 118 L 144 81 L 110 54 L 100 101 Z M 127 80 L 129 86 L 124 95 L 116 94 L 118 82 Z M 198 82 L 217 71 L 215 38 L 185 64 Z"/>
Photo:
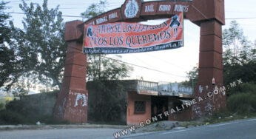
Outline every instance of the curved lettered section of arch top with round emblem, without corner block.
<path id="1" fill-rule="evenodd" d="M 94 18 L 85 21 L 85 24 L 107 24 L 120 21 L 146 21 L 156 17 L 170 18 L 183 12 L 184 17 L 189 15 L 192 0 L 177 1 L 142 1 L 126 0 L 120 8 L 110 10 Z"/>

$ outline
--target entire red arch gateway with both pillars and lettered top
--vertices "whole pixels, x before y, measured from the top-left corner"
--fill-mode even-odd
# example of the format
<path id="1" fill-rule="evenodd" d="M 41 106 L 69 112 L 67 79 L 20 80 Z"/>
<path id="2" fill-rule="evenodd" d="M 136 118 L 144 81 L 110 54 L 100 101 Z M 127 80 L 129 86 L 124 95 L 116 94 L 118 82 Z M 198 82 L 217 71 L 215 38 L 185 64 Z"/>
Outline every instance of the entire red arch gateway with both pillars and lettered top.
<path id="1" fill-rule="evenodd" d="M 131 4 L 131 2 L 133 2 L 132 7 L 127 9 L 127 4 Z M 201 27 L 198 87 L 195 87 L 193 98 L 196 101 L 198 98 L 203 98 L 205 101 L 192 105 L 189 118 L 210 115 L 214 110 L 226 109 L 226 93 L 219 93 L 213 98 L 207 98 L 208 92 L 223 85 L 221 31 L 222 25 L 225 24 L 224 0 L 126 0 L 120 8 L 110 10 L 88 21 L 66 23 L 67 56 L 62 87 L 55 104 L 55 118 L 71 123 L 87 123 L 87 55 L 82 53 L 84 24 L 138 22 L 170 18 L 175 13 L 182 11 L 184 18 Z M 214 85 L 212 84 L 213 79 L 215 80 Z"/>

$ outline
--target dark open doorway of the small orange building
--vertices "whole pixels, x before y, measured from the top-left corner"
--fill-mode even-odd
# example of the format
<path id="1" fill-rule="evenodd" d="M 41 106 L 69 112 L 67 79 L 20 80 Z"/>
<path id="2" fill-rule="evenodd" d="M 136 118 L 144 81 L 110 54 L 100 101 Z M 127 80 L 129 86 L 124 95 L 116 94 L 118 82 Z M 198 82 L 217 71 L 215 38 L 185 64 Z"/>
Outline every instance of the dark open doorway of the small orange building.
<path id="1" fill-rule="evenodd" d="M 168 98 L 164 96 L 151 96 L 151 116 L 158 117 L 158 121 L 167 121 L 168 117 L 164 116 L 164 112 L 168 110 Z M 162 118 L 158 115 L 162 114 Z"/>

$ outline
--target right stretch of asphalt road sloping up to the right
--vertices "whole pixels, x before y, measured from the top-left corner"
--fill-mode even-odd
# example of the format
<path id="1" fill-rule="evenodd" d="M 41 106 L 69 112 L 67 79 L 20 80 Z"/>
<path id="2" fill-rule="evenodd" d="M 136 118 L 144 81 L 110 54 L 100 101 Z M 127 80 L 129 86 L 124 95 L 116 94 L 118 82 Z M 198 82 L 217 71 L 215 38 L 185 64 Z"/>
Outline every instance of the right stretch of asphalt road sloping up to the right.
<path id="1" fill-rule="evenodd" d="M 168 132 L 129 135 L 132 139 L 256 139 L 256 118 L 228 123 L 198 126 L 188 129 L 175 129 Z"/>

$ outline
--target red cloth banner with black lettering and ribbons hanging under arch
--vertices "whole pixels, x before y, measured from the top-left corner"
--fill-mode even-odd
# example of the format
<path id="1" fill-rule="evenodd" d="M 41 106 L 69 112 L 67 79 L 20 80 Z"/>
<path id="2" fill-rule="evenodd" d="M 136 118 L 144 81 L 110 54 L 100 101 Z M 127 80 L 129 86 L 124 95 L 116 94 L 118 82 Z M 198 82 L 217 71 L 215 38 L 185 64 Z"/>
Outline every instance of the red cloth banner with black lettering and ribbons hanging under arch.
<path id="1" fill-rule="evenodd" d="M 162 24 L 127 22 L 85 25 L 86 54 L 121 54 L 169 50 L 183 46 L 183 13 Z"/>

